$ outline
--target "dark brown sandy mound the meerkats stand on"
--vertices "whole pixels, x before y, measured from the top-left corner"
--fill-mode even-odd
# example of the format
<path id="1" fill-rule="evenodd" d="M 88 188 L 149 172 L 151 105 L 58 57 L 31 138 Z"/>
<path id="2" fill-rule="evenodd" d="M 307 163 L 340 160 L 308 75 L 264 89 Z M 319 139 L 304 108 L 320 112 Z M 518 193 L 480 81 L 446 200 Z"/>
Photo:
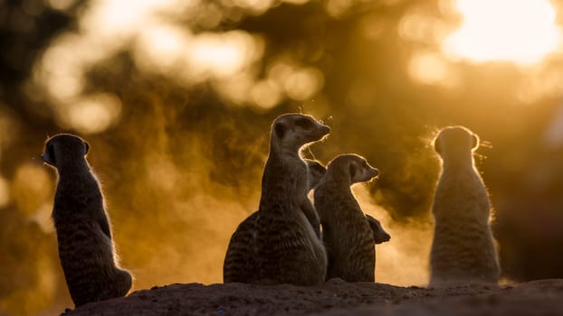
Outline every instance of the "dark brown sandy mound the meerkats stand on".
<path id="1" fill-rule="evenodd" d="M 381 283 L 172 284 L 86 304 L 65 315 L 555 315 L 563 280 L 447 289 Z"/>

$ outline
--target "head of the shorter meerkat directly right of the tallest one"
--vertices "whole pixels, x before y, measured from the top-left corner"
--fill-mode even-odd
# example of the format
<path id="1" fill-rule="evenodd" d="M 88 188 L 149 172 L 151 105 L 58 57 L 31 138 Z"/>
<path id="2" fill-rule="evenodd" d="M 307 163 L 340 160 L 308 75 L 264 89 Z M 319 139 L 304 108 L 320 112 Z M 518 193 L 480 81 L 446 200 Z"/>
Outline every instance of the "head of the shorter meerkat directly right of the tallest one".
<path id="1" fill-rule="evenodd" d="M 379 171 L 369 165 L 366 159 L 355 153 L 340 154 L 327 165 L 327 172 L 332 176 L 344 177 L 349 184 L 370 181 L 379 175 Z"/>

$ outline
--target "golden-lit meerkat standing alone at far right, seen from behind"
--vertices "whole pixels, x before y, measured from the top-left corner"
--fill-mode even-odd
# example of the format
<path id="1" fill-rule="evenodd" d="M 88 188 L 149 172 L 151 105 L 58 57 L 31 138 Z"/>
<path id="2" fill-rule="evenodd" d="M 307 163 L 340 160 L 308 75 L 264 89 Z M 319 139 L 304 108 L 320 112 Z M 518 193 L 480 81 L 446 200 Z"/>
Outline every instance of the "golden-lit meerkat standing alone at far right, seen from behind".
<path id="1" fill-rule="evenodd" d="M 430 286 L 497 283 L 499 261 L 491 234 L 491 202 L 472 153 L 479 137 L 463 126 L 449 126 L 434 140 L 442 172 L 434 192 L 434 240 Z"/>

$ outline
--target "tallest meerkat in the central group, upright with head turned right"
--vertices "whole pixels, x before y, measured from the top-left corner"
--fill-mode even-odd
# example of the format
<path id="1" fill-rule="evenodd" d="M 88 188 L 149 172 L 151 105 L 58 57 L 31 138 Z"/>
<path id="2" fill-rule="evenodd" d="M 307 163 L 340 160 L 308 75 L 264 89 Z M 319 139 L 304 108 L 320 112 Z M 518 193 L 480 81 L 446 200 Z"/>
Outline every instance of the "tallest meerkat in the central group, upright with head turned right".
<path id="1" fill-rule="evenodd" d="M 301 149 L 329 131 L 329 126 L 301 114 L 286 114 L 273 121 L 256 218 L 253 246 L 258 269 L 253 283 L 324 282 L 327 256 L 310 224 L 319 221 L 319 216 L 307 197 L 307 163 Z"/>

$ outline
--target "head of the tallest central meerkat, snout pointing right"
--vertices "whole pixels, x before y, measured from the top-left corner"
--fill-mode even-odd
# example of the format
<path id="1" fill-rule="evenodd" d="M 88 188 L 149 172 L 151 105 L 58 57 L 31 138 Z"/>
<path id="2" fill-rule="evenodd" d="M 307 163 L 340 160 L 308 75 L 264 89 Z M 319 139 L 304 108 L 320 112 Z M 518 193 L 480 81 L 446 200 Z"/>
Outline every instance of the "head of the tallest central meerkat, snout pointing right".
<path id="1" fill-rule="evenodd" d="M 329 132 L 329 126 L 312 116 L 285 114 L 273 121 L 272 144 L 281 150 L 299 152 L 305 144 L 320 141 Z"/>

